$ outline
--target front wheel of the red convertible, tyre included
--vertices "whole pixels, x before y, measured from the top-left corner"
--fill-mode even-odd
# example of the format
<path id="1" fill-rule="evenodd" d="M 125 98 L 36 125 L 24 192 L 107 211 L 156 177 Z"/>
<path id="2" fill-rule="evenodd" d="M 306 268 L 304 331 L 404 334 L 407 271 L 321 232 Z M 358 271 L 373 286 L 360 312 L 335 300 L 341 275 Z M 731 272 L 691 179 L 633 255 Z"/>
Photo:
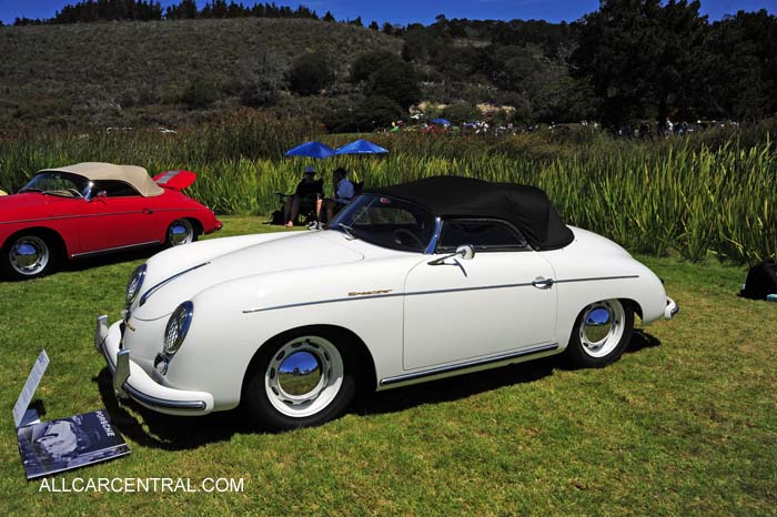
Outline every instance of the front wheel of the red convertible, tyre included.
<path id="1" fill-rule="evenodd" d="M 12 278 L 37 278 L 50 273 L 57 263 L 51 241 L 38 234 L 12 237 L 2 252 L 2 268 Z"/>

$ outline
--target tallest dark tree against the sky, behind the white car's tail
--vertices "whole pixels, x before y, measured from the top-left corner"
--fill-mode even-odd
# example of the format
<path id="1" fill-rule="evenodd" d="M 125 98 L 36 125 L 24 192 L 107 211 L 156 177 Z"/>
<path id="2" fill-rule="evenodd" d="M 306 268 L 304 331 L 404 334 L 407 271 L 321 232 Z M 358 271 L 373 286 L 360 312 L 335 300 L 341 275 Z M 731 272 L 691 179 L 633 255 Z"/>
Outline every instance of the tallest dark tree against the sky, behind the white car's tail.
<path id="1" fill-rule="evenodd" d="M 602 99 L 604 121 L 649 109 L 663 128 L 670 111 L 687 109 L 705 28 L 697 0 L 602 0 L 585 16 L 572 60 Z"/>

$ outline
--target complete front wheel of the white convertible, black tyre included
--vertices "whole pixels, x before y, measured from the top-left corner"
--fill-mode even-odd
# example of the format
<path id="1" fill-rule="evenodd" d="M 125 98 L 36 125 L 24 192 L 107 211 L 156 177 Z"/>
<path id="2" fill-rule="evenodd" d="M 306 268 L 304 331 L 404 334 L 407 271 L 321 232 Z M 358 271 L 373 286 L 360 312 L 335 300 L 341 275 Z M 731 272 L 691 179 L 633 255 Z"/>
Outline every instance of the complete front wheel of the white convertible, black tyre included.
<path id="1" fill-rule="evenodd" d="M 351 344 L 317 330 L 281 335 L 260 349 L 244 401 L 258 426 L 289 430 L 340 416 L 356 393 Z"/>

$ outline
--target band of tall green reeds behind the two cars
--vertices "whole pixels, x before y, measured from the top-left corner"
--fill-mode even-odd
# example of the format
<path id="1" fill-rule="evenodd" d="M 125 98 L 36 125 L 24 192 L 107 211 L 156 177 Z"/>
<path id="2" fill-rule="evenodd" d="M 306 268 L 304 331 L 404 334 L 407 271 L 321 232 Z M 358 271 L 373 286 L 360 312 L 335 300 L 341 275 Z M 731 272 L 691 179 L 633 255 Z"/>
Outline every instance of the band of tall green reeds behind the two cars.
<path id="1" fill-rule="evenodd" d="M 329 176 L 337 166 L 370 186 L 453 174 L 544 189 L 564 219 L 633 252 L 709 254 L 738 263 L 777 255 L 777 155 L 766 132 L 713 146 L 698 139 L 615 141 L 601 133 L 568 142 L 543 134 L 380 134 L 386 156 L 284 159 L 315 138 L 304 120 L 241 115 L 178 134 L 138 131 L 49 134 L 0 142 L 0 187 L 20 187 L 36 171 L 79 161 L 141 164 L 157 173 L 190 169 L 190 194 L 218 213 L 266 215 L 275 192 L 292 192 L 305 165 Z M 340 145 L 354 135 L 324 135 Z M 331 189 L 331 185 L 327 185 Z"/>

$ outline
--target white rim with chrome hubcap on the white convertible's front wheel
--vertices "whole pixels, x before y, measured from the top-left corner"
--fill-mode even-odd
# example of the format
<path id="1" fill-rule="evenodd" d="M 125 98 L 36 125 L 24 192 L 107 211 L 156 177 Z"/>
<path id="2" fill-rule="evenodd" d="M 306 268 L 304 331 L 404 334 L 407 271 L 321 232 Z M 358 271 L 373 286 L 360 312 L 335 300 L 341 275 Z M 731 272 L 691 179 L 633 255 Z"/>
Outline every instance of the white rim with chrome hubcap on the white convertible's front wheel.
<path id="1" fill-rule="evenodd" d="M 343 358 L 320 336 L 294 338 L 275 353 L 264 374 L 270 403 L 283 415 L 303 418 L 329 406 L 343 384 Z"/>

